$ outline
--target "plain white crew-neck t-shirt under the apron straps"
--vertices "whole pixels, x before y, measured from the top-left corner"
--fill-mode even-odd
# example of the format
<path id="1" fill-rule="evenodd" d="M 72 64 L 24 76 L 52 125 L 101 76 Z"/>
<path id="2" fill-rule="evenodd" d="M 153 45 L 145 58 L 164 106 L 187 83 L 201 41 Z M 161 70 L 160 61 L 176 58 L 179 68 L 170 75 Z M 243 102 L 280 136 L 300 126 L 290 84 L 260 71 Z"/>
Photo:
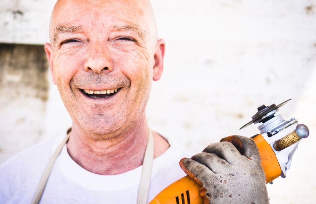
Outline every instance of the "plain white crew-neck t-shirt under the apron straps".
<path id="1" fill-rule="evenodd" d="M 0 204 L 30 203 L 40 176 L 62 138 L 35 145 L 0 167 Z M 153 161 L 148 201 L 169 184 L 185 176 L 179 160 L 191 157 L 178 144 Z M 40 203 L 136 203 L 142 166 L 119 175 L 91 173 L 74 162 L 66 145 L 57 158 Z"/>

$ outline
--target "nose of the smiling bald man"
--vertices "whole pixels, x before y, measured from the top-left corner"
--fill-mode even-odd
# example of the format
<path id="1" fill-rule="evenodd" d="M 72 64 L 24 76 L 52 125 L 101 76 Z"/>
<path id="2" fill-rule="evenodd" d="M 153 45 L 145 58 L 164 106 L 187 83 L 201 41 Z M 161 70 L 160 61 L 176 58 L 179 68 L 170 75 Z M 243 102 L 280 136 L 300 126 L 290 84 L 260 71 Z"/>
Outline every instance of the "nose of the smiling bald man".
<path id="1" fill-rule="evenodd" d="M 84 69 L 88 72 L 94 71 L 95 73 L 104 71 L 111 72 L 113 70 L 110 52 L 105 45 L 100 45 L 100 43 L 98 43 L 89 47 Z"/>

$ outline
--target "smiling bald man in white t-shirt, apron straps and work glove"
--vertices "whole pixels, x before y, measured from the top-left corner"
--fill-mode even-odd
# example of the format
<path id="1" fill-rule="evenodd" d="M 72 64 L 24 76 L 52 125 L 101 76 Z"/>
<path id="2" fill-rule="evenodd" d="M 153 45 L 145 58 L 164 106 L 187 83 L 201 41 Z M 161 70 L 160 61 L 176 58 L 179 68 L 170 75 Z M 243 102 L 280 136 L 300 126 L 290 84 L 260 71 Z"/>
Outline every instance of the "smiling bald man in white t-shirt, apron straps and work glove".
<path id="1" fill-rule="evenodd" d="M 41 203 L 144 203 L 184 176 L 177 163 L 188 153 L 152 132 L 145 117 L 151 83 L 161 77 L 165 52 L 150 3 L 60 0 L 52 12 L 50 40 L 45 51 L 52 80 L 73 121 L 69 139 L 61 143 L 60 154 L 55 149 L 62 138 L 4 163 L 0 203 L 30 203 L 36 197 Z M 146 182 L 141 172 L 151 138 L 149 158 L 155 159 Z M 250 159 L 231 143 L 216 143 L 194 160 L 181 160 L 185 172 L 204 187 L 205 202 L 268 202 L 258 150 L 251 139 L 237 139 Z M 47 171 L 50 159 L 52 169 Z M 239 172 L 240 166 L 245 168 Z M 42 172 L 50 174 L 47 183 Z M 226 180 L 216 184 L 214 173 Z M 45 190 L 37 194 L 41 182 Z M 139 183 L 145 190 L 138 192 Z M 239 194 L 238 188 L 246 190 Z"/>

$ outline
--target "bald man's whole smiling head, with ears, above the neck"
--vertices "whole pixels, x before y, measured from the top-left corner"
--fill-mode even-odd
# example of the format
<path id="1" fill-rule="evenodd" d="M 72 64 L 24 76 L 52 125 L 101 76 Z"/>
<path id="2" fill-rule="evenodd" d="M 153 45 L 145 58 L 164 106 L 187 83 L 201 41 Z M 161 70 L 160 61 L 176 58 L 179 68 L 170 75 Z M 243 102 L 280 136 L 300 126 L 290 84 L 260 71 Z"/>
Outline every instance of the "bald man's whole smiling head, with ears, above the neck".
<path id="1" fill-rule="evenodd" d="M 145 118 L 164 42 L 143 1 L 58 1 L 45 50 L 73 128 L 108 139 Z"/>

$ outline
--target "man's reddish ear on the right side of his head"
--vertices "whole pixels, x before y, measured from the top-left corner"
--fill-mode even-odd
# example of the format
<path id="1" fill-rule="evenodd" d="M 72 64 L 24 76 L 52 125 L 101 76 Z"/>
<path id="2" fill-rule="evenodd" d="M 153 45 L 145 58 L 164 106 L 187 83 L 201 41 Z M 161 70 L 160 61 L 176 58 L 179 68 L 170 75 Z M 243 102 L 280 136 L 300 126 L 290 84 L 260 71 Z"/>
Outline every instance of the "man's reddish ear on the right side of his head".
<path id="1" fill-rule="evenodd" d="M 157 41 L 155 47 L 155 64 L 154 64 L 154 75 L 153 80 L 158 81 L 161 77 L 163 71 L 163 58 L 165 56 L 165 41 L 163 39 L 159 39 Z"/>

